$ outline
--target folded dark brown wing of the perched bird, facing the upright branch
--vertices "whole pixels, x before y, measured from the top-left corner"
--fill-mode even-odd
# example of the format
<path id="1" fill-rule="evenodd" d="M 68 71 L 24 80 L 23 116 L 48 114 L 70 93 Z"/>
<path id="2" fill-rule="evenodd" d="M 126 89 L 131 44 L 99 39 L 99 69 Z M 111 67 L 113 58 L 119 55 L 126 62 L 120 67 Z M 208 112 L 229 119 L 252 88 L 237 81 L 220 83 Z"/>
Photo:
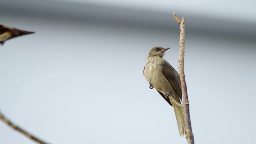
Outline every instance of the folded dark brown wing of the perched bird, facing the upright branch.
<path id="1" fill-rule="evenodd" d="M 182 92 L 180 86 L 180 76 L 178 72 L 166 61 L 162 64 L 162 73 L 164 77 L 170 82 L 176 94 L 178 94 L 180 100 L 182 100 Z"/>

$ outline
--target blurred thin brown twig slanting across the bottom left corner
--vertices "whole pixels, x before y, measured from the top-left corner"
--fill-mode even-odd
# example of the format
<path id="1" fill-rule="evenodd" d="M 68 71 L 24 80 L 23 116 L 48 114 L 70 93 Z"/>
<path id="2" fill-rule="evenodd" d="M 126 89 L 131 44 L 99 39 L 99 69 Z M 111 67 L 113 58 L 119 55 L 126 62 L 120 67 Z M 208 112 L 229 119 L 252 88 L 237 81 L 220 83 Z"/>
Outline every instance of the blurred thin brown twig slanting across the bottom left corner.
<path id="1" fill-rule="evenodd" d="M 4 123 L 8 124 L 10 127 L 14 128 L 15 130 L 21 132 L 22 134 L 24 134 L 25 136 L 27 136 L 28 138 L 38 142 L 39 144 L 47 144 L 46 142 L 43 142 L 42 140 L 40 140 L 39 138 L 36 138 L 35 136 L 33 136 L 32 134 L 30 134 L 29 132 L 23 130 L 22 128 L 16 126 L 15 124 L 13 124 L 10 120 L 8 120 L 1 112 L 0 112 L 0 120 L 2 120 Z"/>

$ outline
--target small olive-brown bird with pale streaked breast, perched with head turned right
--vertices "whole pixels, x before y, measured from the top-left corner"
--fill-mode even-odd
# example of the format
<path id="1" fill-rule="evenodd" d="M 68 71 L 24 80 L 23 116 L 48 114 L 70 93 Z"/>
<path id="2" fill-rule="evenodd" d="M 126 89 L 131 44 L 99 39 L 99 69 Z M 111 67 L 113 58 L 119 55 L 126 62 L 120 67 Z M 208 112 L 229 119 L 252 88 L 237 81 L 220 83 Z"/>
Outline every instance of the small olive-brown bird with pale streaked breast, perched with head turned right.
<path id="1" fill-rule="evenodd" d="M 181 103 L 182 92 L 180 86 L 180 77 L 178 72 L 164 60 L 164 52 L 169 48 L 162 48 L 156 46 L 150 50 L 148 53 L 148 58 L 146 60 L 145 70 L 146 79 L 150 86 L 160 91 L 158 93 L 174 108 L 174 113 L 176 116 L 178 129 L 180 136 L 184 135 L 184 116 L 183 110 L 180 106 L 177 106 L 171 98 L 172 96 L 176 102 Z"/>

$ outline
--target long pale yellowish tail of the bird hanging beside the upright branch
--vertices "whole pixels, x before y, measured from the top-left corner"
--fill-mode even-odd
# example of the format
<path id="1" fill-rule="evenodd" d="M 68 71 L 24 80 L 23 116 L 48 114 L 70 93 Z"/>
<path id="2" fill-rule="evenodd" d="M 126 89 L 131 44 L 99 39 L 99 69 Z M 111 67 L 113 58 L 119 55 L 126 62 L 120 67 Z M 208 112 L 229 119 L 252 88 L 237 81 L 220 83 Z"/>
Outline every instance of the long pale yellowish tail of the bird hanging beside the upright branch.
<path id="1" fill-rule="evenodd" d="M 180 100 L 178 102 L 180 102 Z M 185 123 L 184 123 L 184 115 L 183 115 L 182 107 L 176 106 L 175 104 L 173 104 L 173 108 L 174 108 L 174 113 L 176 116 L 180 136 L 183 136 L 184 130 L 185 130 Z"/>

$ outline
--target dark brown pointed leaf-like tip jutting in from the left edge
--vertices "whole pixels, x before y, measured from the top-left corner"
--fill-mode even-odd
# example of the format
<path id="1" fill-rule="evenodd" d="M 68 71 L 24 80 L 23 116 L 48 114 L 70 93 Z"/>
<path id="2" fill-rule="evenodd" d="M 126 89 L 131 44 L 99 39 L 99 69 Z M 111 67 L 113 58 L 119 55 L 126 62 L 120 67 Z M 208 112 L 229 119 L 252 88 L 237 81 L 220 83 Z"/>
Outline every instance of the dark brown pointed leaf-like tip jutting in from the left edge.
<path id="1" fill-rule="evenodd" d="M 15 38 L 17 36 L 21 36 L 24 34 L 34 34 L 34 32 L 18 30 L 16 28 L 12 28 L 10 26 L 5 26 L 0 24 L 0 44 L 2 45 L 6 40 L 9 40 L 11 38 Z"/>

